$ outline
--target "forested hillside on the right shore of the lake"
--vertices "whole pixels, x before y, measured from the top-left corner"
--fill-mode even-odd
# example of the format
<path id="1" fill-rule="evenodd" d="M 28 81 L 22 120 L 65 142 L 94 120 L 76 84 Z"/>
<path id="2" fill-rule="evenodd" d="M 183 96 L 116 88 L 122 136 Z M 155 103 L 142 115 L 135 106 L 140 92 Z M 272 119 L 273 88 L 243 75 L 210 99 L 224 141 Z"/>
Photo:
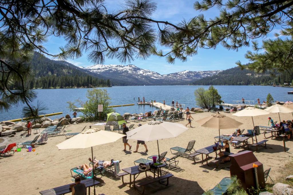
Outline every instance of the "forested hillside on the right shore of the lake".
<path id="1" fill-rule="evenodd" d="M 287 85 L 292 82 L 289 74 L 257 74 L 239 67 L 223 70 L 217 75 L 205 77 L 192 82 L 194 85 Z M 285 84 L 284 84 L 285 83 Z"/>

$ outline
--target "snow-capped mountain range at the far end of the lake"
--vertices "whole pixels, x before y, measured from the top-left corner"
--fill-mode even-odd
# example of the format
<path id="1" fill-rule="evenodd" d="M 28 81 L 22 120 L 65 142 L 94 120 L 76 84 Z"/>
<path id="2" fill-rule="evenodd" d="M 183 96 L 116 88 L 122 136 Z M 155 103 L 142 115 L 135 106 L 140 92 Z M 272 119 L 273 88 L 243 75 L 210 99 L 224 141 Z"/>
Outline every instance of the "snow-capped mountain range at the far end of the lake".
<path id="1" fill-rule="evenodd" d="M 125 82 L 125 84 L 132 85 L 176 85 L 176 84 L 189 84 L 196 79 L 209 77 L 215 75 L 222 70 L 212 71 L 181 71 L 178 73 L 171 73 L 161 75 L 151 70 L 138 68 L 135 65 L 93 65 L 87 68 L 79 67 L 88 70 L 92 73 L 102 75 L 110 79 Z"/>

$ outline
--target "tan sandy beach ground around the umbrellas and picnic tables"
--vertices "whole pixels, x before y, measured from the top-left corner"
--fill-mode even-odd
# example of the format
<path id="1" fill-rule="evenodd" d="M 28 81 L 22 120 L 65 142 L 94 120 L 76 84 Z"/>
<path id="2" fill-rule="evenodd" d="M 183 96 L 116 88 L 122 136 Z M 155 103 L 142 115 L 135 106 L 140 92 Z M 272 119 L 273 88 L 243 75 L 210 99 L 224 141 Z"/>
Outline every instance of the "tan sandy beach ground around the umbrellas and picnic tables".
<path id="1" fill-rule="evenodd" d="M 196 140 L 194 149 L 201 149 L 210 146 L 214 143 L 214 137 L 218 135 L 218 130 L 205 127 L 199 127 L 195 120 L 207 117 L 212 113 L 196 113 L 192 114 L 194 120 L 192 121 L 193 128 L 188 127 L 188 130 L 180 134 L 176 138 L 159 140 L 160 152 L 168 151 L 166 157 L 172 157 L 170 148 L 174 146 L 186 147 L 188 142 Z M 233 113 L 223 113 L 231 118 L 242 122 L 241 129 L 252 129 L 251 117 L 236 117 L 231 116 Z M 268 125 L 268 116 L 274 120 L 279 120 L 277 113 L 270 115 L 262 115 L 253 117 L 255 125 Z M 292 114 L 280 113 L 282 120 L 292 119 Z M 148 122 L 148 121 L 147 121 Z M 139 123 L 145 124 L 147 122 L 131 122 L 137 127 Z M 67 125 L 65 130 L 71 132 L 80 132 L 85 126 L 93 125 L 96 122 L 81 123 L 77 125 Z M 187 124 L 187 120 L 179 121 L 178 123 Z M 104 130 L 104 126 L 93 126 Z M 42 129 L 43 130 L 43 129 Z M 41 130 L 41 131 L 42 131 Z M 235 130 L 221 130 L 221 134 L 232 134 Z M 15 137 L 5 140 L 6 144 L 11 142 L 20 143 L 26 140 L 32 140 L 36 134 L 30 137 L 21 138 L 21 132 L 18 132 Z M 72 182 L 70 169 L 82 163 L 89 163 L 88 158 L 91 157 L 91 149 L 67 149 L 58 150 L 57 144 L 66 139 L 65 136 L 49 137 L 46 144 L 36 147 L 35 152 L 26 152 L 22 149 L 21 152 L 16 152 L 14 156 L 1 157 L 1 194 L 39 194 L 39 191 L 58 187 Z M 258 140 L 263 140 L 263 134 L 258 136 Z M 264 164 L 264 169 L 272 168 L 270 176 L 274 180 L 277 177 L 279 170 L 289 161 L 292 156 L 293 142 L 287 141 L 287 152 L 284 152 L 283 142 L 280 139 L 268 139 L 267 149 L 259 147 L 258 151 L 250 147 L 254 151 L 254 155 L 258 160 Z M 251 142 L 251 139 L 248 141 Z M 93 147 L 94 156 L 97 159 L 109 161 L 110 159 L 121 160 L 120 169 L 134 166 L 134 161 L 139 158 L 147 158 L 148 156 L 157 154 L 156 141 L 146 142 L 149 151 L 144 153 L 144 146 L 139 146 L 139 152 L 133 153 L 136 148 L 136 141 L 129 140 L 132 145 L 131 151 L 122 151 L 122 139 L 115 143 L 104 144 Z M 3 144 L 1 144 L 3 145 Z M 128 147 L 127 147 L 128 149 Z M 231 146 L 232 153 L 243 151 L 242 147 L 234 148 Z M 211 154 L 212 157 L 215 154 Z M 214 166 L 202 165 L 201 161 L 194 163 L 193 161 L 179 157 L 178 166 L 184 169 L 181 172 L 171 172 L 174 177 L 169 180 L 168 187 L 154 184 L 146 187 L 145 194 L 202 194 L 204 191 L 213 188 L 223 177 L 230 177 L 229 163 L 220 164 L 219 168 Z M 224 167 L 221 169 L 220 167 Z M 207 169 L 209 172 L 202 172 Z M 166 170 L 168 171 L 168 170 Z M 144 179 L 144 175 L 139 175 L 137 181 Z M 134 189 L 122 184 L 120 178 L 116 178 L 113 174 L 108 174 L 107 177 L 98 178 L 101 183 L 97 186 L 97 194 L 138 194 Z M 129 177 L 125 177 L 125 182 L 129 182 Z M 270 183 L 270 179 L 267 181 Z M 91 188 L 93 191 L 93 188 Z"/>

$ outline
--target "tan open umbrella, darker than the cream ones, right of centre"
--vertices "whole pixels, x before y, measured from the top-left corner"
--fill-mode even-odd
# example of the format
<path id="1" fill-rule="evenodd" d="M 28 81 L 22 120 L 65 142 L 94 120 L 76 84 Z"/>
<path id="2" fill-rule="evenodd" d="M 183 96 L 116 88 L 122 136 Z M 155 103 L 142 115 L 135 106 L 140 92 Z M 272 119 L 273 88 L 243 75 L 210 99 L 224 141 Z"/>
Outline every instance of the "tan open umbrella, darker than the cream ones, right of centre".
<path id="1" fill-rule="evenodd" d="M 243 125 L 243 123 L 234 120 L 226 115 L 220 114 L 212 114 L 211 116 L 205 117 L 203 119 L 197 120 L 197 123 L 200 124 L 202 127 L 209 127 L 219 129 L 219 136 L 221 141 L 220 129 L 232 129 L 238 128 L 239 126 Z"/>

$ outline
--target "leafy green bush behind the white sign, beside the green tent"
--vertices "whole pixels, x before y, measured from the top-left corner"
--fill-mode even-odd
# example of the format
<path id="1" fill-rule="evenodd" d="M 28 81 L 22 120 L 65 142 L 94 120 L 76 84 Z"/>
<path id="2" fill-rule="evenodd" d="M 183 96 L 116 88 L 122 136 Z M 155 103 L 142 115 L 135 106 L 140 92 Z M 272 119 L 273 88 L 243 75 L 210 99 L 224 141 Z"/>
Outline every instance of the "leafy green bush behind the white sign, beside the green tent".
<path id="1" fill-rule="evenodd" d="M 108 108 L 110 104 L 110 96 L 106 89 L 92 89 L 88 90 L 86 93 L 87 101 L 83 103 L 80 99 L 74 102 L 68 101 L 68 108 L 74 110 L 78 108 L 76 105 L 82 105 L 84 107 L 81 112 L 85 115 L 84 119 L 93 121 L 103 119 L 108 113 L 113 112 L 113 108 Z M 98 112 L 98 105 L 103 104 L 103 112 Z"/>

